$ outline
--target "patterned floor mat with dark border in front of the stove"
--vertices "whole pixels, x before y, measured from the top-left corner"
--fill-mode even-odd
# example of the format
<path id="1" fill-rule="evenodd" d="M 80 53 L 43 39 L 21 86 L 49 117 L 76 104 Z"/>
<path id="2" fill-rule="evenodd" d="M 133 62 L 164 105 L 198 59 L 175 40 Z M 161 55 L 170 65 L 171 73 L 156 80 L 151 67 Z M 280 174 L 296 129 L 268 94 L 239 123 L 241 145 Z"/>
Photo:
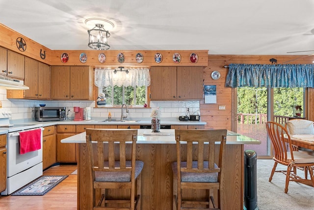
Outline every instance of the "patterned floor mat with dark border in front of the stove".
<path id="1" fill-rule="evenodd" d="M 45 195 L 68 175 L 41 176 L 11 195 Z"/>

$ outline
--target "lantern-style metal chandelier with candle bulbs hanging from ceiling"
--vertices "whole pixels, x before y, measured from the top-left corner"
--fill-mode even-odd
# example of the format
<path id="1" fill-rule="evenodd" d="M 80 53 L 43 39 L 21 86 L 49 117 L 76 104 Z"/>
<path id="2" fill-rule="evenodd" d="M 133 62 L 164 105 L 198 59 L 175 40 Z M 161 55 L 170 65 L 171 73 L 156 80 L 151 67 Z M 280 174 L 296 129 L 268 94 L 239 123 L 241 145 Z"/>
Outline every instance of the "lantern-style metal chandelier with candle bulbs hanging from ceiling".
<path id="1" fill-rule="evenodd" d="M 110 33 L 105 30 L 103 24 L 95 24 L 95 27 L 87 30 L 88 32 L 88 47 L 95 50 L 109 50 L 108 38 Z"/>

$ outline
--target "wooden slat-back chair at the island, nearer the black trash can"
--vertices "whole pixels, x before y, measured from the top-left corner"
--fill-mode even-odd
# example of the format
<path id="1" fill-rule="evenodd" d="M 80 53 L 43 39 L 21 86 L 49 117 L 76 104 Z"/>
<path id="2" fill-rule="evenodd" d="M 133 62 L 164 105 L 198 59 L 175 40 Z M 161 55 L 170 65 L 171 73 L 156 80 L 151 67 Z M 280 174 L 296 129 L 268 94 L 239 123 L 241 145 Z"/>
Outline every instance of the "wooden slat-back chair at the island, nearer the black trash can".
<path id="1" fill-rule="evenodd" d="M 223 152 L 227 130 L 175 130 L 177 161 L 172 163 L 174 206 L 219 210 Z M 216 162 L 215 162 L 216 161 Z M 217 163 L 217 164 L 216 164 Z M 183 190 L 206 190 L 203 200 L 195 200 Z M 216 199 L 215 196 L 216 195 Z M 216 201 L 216 202 L 215 202 Z"/>

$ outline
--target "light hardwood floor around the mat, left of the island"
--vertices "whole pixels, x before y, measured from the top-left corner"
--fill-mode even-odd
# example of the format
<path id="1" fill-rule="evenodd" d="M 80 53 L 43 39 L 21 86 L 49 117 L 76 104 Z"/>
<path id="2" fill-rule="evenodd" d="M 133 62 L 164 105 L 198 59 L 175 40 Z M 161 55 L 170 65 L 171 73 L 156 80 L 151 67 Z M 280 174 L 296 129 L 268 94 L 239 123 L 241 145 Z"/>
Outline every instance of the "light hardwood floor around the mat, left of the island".
<path id="1" fill-rule="evenodd" d="M 44 196 L 0 196 L 0 210 L 76 210 L 77 175 L 71 174 L 76 165 L 53 166 L 43 175 L 69 175 Z"/>

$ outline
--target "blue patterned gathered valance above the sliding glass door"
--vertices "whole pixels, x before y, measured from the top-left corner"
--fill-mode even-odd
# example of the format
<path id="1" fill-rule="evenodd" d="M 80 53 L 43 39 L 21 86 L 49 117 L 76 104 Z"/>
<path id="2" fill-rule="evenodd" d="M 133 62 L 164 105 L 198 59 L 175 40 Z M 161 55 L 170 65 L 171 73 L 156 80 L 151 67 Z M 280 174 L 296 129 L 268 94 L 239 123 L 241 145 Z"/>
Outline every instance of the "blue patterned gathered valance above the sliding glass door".
<path id="1" fill-rule="evenodd" d="M 314 87 L 314 64 L 229 64 L 226 87 Z"/>

